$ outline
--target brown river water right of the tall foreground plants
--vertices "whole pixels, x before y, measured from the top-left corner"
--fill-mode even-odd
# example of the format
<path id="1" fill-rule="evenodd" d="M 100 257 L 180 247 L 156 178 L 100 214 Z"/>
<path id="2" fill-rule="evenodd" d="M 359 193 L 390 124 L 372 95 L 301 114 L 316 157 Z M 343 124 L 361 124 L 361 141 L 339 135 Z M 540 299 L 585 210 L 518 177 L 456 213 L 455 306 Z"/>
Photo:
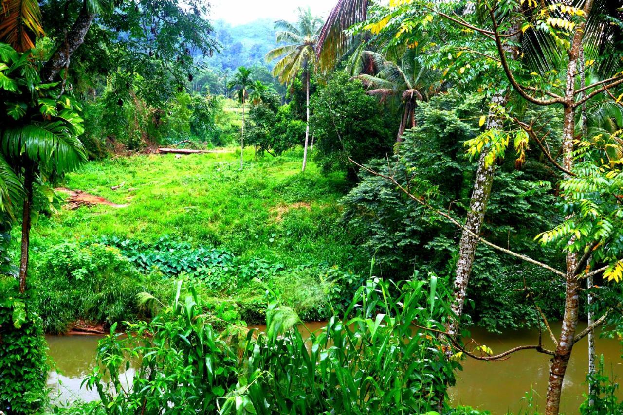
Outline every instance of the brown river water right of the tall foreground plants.
<path id="1" fill-rule="evenodd" d="M 578 331 L 586 328 L 586 323 L 578 326 Z M 554 324 L 552 330 L 559 333 L 559 325 Z M 537 330 L 519 330 L 506 332 L 502 335 L 487 333 L 479 328 L 471 329 L 472 336 L 479 343 L 493 349 L 493 353 L 511 349 L 520 345 L 538 343 Z M 543 333 L 543 345 L 553 350 L 553 342 Z M 607 374 L 623 376 L 621 345 L 617 340 L 598 338 L 596 340 L 597 355 L 604 355 Z M 535 403 L 542 411 L 545 408 L 545 394 L 549 377 L 550 356 L 537 353 L 535 350 L 521 350 L 513 353 L 504 361 L 479 361 L 467 359 L 463 363 L 463 371 L 457 376 L 457 385 L 450 389 L 449 394 L 454 405 L 469 405 L 474 408 L 488 409 L 492 414 L 506 414 L 507 411 L 518 412 L 526 409 L 524 398 L 526 391 L 534 389 Z M 571 360 L 564 376 L 561 411 L 571 415 L 578 414 L 579 405 L 584 401 L 587 392 L 586 373 L 588 366 L 588 341 L 579 341 L 573 348 Z"/>

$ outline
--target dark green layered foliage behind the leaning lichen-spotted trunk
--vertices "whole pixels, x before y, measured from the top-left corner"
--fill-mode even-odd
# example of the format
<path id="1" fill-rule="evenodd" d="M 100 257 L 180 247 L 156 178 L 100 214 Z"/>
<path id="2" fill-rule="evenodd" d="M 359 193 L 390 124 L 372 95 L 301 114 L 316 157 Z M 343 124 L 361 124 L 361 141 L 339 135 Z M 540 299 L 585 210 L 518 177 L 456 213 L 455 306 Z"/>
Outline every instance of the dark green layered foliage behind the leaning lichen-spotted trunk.
<path id="1" fill-rule="evenodd" d="M 461 102 L 457 105 L 457 102 Z M 464 214 L 473 166 L 463 143 L 477 136 L 477 115 L 482 100 L 452 92 L 434 97 L 417 108 L 417 128 L 407 130 L 399 154 L 371 162 L 382 174 L 389 168 L 401 183 L 411 181 L 412 191 L 439 209 Z M 539 161 L 529 161 L 521 170 L 514 163 L 499 167 L 488 205 L 485 232 L 488 239 L 519 252 L 553 260 L 556 253 L 530 242 L 531 229 L 551 227 L 558 216 L 553 195 L 538 183 L 551 180 L 551 172 Z M 534 198 L 536 194 L 540 198 Z M 457 229 L 430 206 L 422 206 L 386 179 L 361 173 L 360 183 L 342 201 L 343 220 L 356 234 L 356 241 L 369 252 L 384 275 L 404 278 L 410 266 L 422 270 L 444 269 L 455 260 Z M 559 318 L 562 298 L 556 276 L 543 279 L 542 272 L 495 255 L 487 246 L 476 252 L 470 298 L 475 301 L 472 317 L 492 330 L 538 324 L 530 307 L 531 292 L 552 318 Z M 530 290 L 524 289 L 524 283 Z M 472 313 L 472 312 L 470 312 Z"/>

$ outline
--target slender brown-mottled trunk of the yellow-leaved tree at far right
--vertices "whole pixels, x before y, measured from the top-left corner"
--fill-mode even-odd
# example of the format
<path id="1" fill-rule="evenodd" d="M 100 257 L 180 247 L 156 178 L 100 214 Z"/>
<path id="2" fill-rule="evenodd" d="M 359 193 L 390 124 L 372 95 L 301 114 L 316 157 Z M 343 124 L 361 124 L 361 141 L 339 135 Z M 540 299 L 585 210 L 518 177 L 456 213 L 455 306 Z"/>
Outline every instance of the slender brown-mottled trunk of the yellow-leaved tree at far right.
<path id="1" fill-rule="evenodd" d="M 578 73 L 578 60 L 581 55 L 584 27 L 592 8 L 592 0 L 584 3 L 585 20 L 578 24 L 569 49 L 569 64 L 567 66 L 567 79 L 564 92 L 564 117 L 563 117 L 563 167 L 567 171 L 573 169 L 573 136 L 575 132 L 575 80 Z M 569 239 L 569 245 L 573 244 L 574 238 Z M 561 329 L 558 345 L 554 351 L 551 368 L 549 370 L 549 383 L 547 401 L 545 406 L 546 415 L 557 415 L 560 411 L 560 396 L 563 389 L 564 374 L 569 365 L 571 351 L 573 350 L 574 336 L 578 328 L 579 316 L 579 282 L 576 277 L 578 267 L 578 255 L 568 252 L 566 255 L 566 290 L 564 298 L 563 327 Z"/>

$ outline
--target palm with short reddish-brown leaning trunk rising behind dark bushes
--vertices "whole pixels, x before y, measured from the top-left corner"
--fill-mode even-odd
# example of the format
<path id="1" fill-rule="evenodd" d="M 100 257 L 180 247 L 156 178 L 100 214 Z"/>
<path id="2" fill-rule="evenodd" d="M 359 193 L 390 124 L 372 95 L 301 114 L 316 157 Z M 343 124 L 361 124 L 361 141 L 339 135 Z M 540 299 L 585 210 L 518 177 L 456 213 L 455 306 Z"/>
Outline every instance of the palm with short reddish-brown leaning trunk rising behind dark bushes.
<path id="1" fill-rule="evenodd" d="M 368 87 L 369 95 L 379 97 L 381 102 L 393 99 L 402 107 L 402 116 L 396 141 L 402 141 L 407 125 L 416 126 L 417 101 L 427 101 L 430 95 L 439 92 L 442 84 L 435 70 L 426 68 L 418 59 L 419 48 L 407 49 L 399 64 L 385 60 L 377 52 L 361 52 L 362 68 L 371 69 L 373 74 L 359 74 L 354 78 Z"/>

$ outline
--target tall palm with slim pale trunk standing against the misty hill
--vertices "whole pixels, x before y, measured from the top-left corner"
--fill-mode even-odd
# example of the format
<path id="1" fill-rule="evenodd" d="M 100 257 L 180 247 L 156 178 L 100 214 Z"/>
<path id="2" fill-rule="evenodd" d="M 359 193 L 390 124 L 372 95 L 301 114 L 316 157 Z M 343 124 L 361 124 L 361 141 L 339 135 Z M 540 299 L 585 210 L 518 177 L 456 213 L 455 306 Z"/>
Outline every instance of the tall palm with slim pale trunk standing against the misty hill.
<path id="1" fill-rule="evenodd" d="M 280 58 L 272 74 L 278 77 L 279 82 L 292 83 L 298 73 L 303 70 L 305 75 L 305 108 L 307 110 L 307 126 L 305 127 L 305 148 L 303 150 L 303 168 L 307 165 L 307 145 L 310 136 L 310 66 L 316 62 L 316 43 L 320 34 L 322 21 L 313 17 L 310 9 L 298 9 L 298 22 L 292 23 L 280 20 L 275 22 L 277 43 L 286 45 L 276 47 L 266 54 L 266 60 Z"/>

